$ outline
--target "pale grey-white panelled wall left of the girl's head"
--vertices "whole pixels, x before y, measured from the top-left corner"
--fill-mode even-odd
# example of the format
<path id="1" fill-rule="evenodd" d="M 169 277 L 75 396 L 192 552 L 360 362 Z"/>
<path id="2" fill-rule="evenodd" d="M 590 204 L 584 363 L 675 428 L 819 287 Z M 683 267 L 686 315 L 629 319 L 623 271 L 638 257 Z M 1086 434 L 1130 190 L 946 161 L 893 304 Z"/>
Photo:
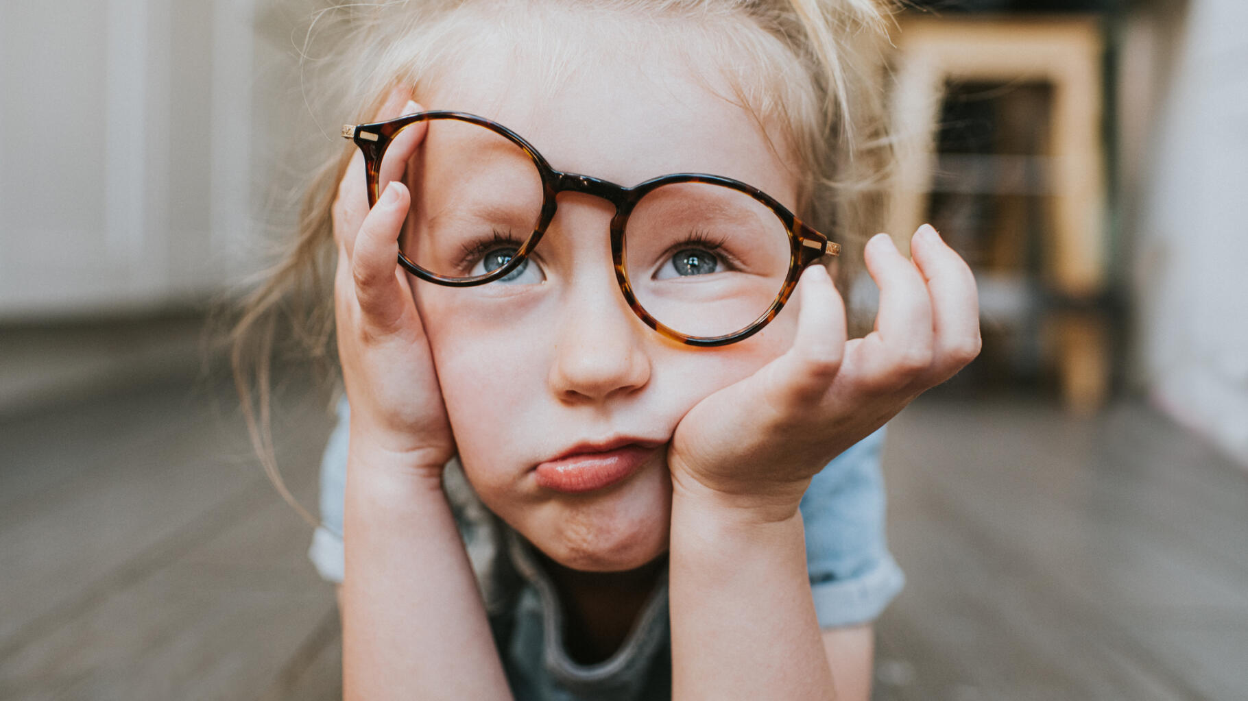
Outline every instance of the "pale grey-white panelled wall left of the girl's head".
<path id="1" fill-rule="evenodd" d="M 252 2 L 0 2 L 0 321 L 200 301 L 246 267 Z"/>

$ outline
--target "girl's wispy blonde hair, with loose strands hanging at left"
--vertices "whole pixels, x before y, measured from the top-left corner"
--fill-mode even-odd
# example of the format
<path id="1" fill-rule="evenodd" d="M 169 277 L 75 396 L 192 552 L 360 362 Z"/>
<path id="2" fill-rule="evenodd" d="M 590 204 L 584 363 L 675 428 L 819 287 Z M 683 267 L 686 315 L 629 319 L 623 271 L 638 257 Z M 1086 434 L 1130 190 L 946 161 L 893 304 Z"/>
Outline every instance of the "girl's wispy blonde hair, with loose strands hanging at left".
<path id="1" fill-rule="evenodd" d="M 532 47 L 547 85 L 573 70 L 570 52 L 587 50 L 562 31 L 569 20 L 582 27 L 589 17 L 595 26 L 643 20 L 612 25 L 635 41 L 673 31 L 713 37 L 696 42 L 709 55 L 689 54 L 686 42 L 671 45 L 699 77 L 726 79 L 730 94 L 721 96 L 745 109 L 764 135 L 782 137 L 773 148 L 796 160 L 796 215 L 842 244 L 837 281 L 844 291 L 882 216 L 890 153 L 881 55 L 891 11 L 890 0 L 357 0 L 313 16 L 303 74 L 321 123 L 364 122 L 396 85 L 414 86 L 418 96 L 422 86 L 437 85 L 472 50 L 467 39 L 479 42 L 487 34 Z M 332 52 L 321 55 L 326 40 Z M 303 350 L 333 372 L 331 207 L 353 146 L 331 143 L 305 191 L 293 244 L 246 297 L 230 338 L 252 443 L 282 496 L 311 523 L 277 473 L 270 370 L 285 319 Z"/>

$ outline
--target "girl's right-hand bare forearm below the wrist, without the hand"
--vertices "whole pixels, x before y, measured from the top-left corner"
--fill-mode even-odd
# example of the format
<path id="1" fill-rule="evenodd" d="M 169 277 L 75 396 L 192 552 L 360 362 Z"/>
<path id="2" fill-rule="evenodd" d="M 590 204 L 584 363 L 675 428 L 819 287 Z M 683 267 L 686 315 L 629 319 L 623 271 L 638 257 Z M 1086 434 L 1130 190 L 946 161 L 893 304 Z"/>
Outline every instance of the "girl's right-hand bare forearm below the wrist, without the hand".
<path id="1" fill-rule="evenodd" d="M 673 699 L 834 697 L 800 511 L 764 521 L 704 496 L 671 504 Z"/>

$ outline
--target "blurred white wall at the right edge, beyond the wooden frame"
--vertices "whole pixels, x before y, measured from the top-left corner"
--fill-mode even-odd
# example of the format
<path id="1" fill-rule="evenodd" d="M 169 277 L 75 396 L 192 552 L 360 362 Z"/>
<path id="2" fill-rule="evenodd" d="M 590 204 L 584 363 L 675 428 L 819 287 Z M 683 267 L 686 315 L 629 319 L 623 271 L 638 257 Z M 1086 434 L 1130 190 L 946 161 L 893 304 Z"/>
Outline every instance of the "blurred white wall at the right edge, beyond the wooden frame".
<path id="1" fill-rule="evenodd" d="M 1157 403 L 1248 464 L 1248 2 L 1176 26 L 1131 216 L 1138 354 Z"/>

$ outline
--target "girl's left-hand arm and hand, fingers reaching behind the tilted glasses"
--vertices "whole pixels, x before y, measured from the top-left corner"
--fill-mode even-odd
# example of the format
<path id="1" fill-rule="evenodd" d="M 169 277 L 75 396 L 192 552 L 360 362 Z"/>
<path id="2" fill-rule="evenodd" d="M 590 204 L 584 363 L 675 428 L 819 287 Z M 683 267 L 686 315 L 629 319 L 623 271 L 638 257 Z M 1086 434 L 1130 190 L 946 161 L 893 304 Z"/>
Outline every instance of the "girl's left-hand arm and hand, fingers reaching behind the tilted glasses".
<path id="1" fill-rule="evenodd" d="M 396 90 L 379 118 L 414 112 Z M 406 110 L 406 112 L 404 112 Z M 391 146 L 394 180 L 369 210 L 357 153 L 333 206 L 334 322 L 351 399 L 343 510 L 346 699 L 510 699 L 468 555 L 442 491 L 454 454 L 398 234 L 411 205 L 398 182 L 423 130 Z"/>

